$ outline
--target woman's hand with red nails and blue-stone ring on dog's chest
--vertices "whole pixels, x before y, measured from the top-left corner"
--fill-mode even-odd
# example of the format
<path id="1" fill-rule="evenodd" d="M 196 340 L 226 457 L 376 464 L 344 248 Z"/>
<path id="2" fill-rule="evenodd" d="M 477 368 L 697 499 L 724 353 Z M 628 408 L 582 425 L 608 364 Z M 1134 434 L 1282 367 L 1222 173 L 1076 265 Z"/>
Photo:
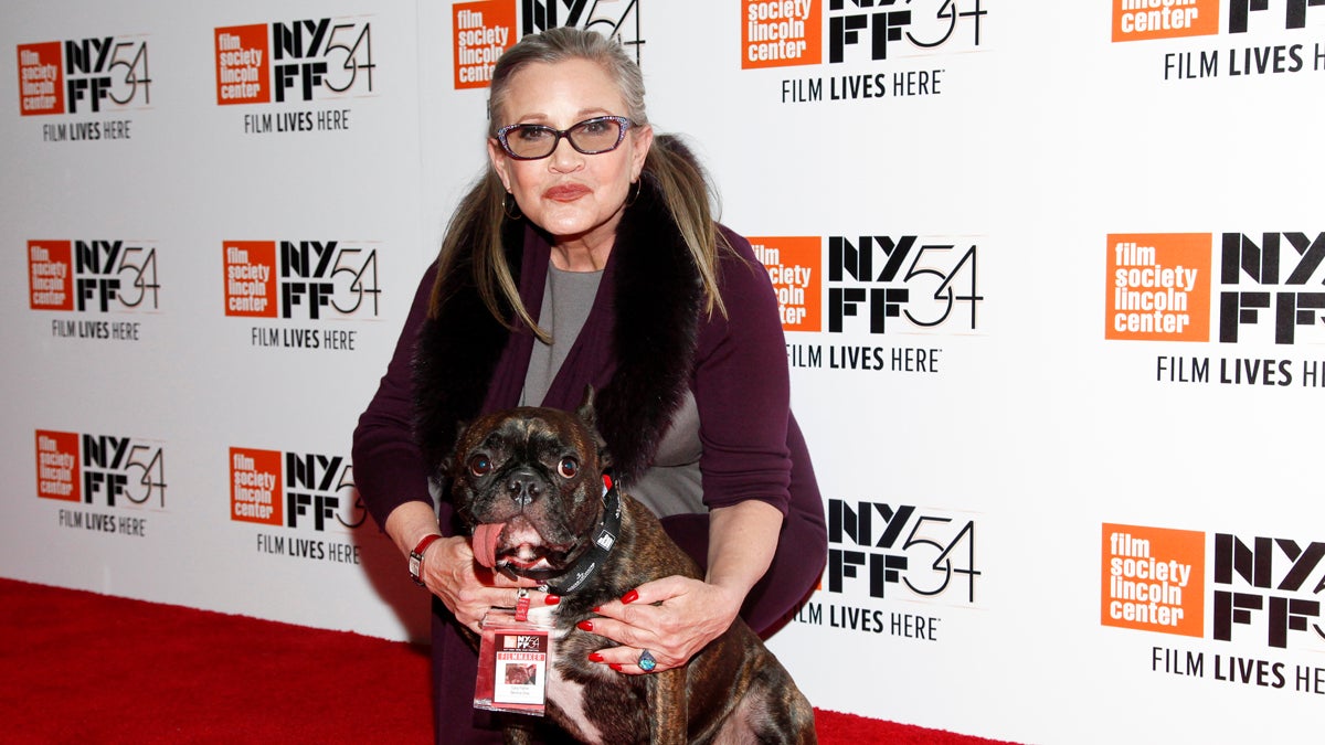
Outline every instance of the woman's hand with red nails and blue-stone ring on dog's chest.
<path id="1" fill-rule="evenodd" d="M 604 603 L 595 610 L 602 618 L 586 620 L 579 627 L 620 644 L 599 650 L 591 661 L 631 675 L 662 672 L 682 667 L 721 636 L 735 620 L 743 601 L 743 595 L 698 579 L 665 577 Z M 645 650 L 657 667 L 640 668 L 640 654 Z"/>

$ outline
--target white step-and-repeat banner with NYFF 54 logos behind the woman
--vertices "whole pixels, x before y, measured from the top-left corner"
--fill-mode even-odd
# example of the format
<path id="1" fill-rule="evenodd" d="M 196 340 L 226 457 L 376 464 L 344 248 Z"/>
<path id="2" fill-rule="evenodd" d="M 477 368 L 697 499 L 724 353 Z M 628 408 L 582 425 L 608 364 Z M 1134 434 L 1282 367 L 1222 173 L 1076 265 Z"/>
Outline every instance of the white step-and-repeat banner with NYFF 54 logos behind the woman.
<path id="1" fill-rule="evenodd" d="M 5 577 L 424 638 L 350 435 L 484 166 L 494 60 L 576 25 L 639 60 L 776 288 L 829 555 L 771 644 L 818 707 L 1312 732 L 1325 3 L 0 17 Z"/>

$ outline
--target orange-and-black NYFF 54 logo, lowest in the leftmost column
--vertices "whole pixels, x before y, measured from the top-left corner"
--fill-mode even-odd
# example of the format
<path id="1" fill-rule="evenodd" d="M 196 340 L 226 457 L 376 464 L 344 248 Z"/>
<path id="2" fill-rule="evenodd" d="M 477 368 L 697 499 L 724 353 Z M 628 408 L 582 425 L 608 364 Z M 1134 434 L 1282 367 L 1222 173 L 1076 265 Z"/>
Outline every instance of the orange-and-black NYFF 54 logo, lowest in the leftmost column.
<path id="1" fill-rule="evenodd" d="M 37 496 L 97 506 L 166 506 L 160 443 L 37 430 Z"/>

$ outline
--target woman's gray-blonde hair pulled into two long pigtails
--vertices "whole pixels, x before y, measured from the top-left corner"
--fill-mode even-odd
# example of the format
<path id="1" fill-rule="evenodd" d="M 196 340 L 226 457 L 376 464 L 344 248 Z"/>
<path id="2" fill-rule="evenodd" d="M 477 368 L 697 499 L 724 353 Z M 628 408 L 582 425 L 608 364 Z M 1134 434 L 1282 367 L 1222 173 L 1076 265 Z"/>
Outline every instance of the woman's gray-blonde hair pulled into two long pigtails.
<path id="1" fill-rule="evenodd" d="M 502 126 L 500 117 L 515 73 L 534 64 L 556 64 L 570 60 L 588 60 L 603 68 L 616 82 L 625 102 L 627 117 L 636 126 L 648 123 L 644 109 L 644 76 L 621 48 L 598 32 L 564 27 L 521 38 L 497 60 L 493 68 L 488 102 L 488 134 L 496 137 Z M 704 168 L 690 151 L 674 137 L 656 135 L 644 162 L 641 178 L 648 178 L 662 194 L 672 220 L 685 241 L 700 272 L 705 290 L 705 310 L 717 309 L 726 315 L 726 306 L 718 293 L 718 260 L 730 247 L 717 229 L 713 216 L 716 195 Z M 489 163 L 473 188 L 461 199 L 439 253 L 437 281 L 433 285 L 429 315 L 436 317 L 441 302 L 445 277 L 462 270 L 458 256 L 464 244 L 472 244 L 473 281 L 488 310 L 504 325 L 510 326 L 509 313 L 514 310 L 518 322 L 529 326 L 538 338 L 549 341 L 529 309 L 521 302 L 519 288 L 511 274 L 502 249 L 502 224 L 510 217 L 505 211 L 506 190 Z"/>

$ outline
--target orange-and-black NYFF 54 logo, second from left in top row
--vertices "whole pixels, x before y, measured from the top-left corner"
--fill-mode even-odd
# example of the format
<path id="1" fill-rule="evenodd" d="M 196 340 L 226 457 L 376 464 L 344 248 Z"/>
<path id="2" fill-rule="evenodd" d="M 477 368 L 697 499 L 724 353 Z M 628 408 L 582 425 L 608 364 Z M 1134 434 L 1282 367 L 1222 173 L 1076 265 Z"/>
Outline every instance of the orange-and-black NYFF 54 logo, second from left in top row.
<path id="1" fill-rule="evenodd" d="M 321 101 L 372 93 L 372 24 L 310 19 L 217 28 L 216 103 Z"/>

